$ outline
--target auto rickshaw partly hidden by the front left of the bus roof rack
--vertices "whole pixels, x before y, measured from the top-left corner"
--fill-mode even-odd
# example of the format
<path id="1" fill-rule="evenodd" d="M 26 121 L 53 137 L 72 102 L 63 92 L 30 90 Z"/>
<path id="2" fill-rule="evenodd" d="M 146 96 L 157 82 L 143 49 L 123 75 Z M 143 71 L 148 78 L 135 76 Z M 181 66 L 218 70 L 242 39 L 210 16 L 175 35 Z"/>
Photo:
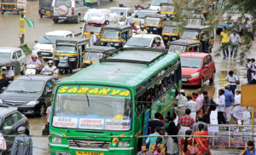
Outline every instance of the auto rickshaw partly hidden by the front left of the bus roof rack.
<path id="1" fill-rule="evenodd" d="M 82 67 L 90 66 L 91 64 L 95 64 L 97 61 L 102 59 L 107 55 L 113 54 L 117 49 L 113 47 L 102 47 L 102 46 L 91 46 L 85 48 L 84 60 L 82 63 Z"/>

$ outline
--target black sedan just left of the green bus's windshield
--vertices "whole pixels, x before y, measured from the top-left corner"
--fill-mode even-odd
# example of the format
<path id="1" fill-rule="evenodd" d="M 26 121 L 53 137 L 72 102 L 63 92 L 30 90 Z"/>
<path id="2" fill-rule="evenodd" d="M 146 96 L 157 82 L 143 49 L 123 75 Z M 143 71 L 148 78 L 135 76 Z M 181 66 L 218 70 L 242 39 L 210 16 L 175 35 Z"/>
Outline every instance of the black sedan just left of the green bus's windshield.
<path id="1" fill-rule="evenodd" d="M 30 75 L 16 78 L 0 95 L 0 104 L 17 107 L 23 114 L 44 116 L 56 78 Z"/>

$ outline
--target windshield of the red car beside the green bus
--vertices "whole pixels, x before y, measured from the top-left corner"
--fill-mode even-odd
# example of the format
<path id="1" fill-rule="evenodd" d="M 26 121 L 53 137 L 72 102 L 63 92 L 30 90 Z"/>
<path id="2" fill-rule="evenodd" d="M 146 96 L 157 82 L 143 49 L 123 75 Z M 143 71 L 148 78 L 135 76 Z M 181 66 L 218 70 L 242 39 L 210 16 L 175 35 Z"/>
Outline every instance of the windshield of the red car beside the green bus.
<path id="1" fill-rule="evenodd" d="M 183 68 L 201 68 L 201 58 L 180 57 Z"/>

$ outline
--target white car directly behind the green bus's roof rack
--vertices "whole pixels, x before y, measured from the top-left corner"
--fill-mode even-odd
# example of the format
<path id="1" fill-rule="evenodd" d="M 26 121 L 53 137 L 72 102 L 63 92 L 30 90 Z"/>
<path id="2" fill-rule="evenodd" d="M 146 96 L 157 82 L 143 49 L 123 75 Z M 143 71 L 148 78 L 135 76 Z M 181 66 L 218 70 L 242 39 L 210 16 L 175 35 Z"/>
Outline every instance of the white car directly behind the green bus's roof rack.
<path id="1" fill-rule="evenodd" d="M 137 34 L 132 36 L 127 43 L 125 43 L 124 48 L 134 48 L 134 47 L 143 47 L 143 48 L 154 48 L 156 41 L 160 41 L 161 44 L 165 45 L 162 37 L 156 34 Z"/>

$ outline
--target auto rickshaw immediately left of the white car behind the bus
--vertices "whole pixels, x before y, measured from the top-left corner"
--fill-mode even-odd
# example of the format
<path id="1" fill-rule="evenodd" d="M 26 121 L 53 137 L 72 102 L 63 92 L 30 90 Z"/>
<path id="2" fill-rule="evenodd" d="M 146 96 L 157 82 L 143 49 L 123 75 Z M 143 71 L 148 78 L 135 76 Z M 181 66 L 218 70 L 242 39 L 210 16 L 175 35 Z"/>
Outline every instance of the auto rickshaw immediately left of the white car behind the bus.
<path id="1" fill-rule="evenodd" d="M 124 46 L 130 37 L 132 37 L 131 26 L 108 25 L 102 27 L 102 37 L 100 41 L 96 42 L 96 45 L 119 49 Z"/>

